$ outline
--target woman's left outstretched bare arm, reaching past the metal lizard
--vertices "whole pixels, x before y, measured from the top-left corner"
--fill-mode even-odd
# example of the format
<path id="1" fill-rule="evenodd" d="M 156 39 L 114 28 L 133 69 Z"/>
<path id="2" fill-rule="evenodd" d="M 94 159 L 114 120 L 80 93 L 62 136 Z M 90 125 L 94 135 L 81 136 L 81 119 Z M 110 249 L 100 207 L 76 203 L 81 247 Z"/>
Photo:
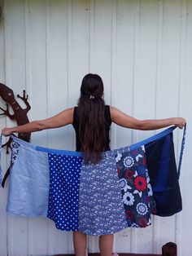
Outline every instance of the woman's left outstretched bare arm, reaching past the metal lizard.
<path id="1" fill-rule="evenodd" d="M 15 126 L 11 128 L 3 128 L 2 135 L 9 136 L 13 133 L 27 133 L 38 130 L 45 130 L 51 128 L 57 128 L 72 124 L 74 108 L 68 108 L 63 110 L 54 117 L 50 117 L 44 120 L 30 121 L 23 126 Z"/>

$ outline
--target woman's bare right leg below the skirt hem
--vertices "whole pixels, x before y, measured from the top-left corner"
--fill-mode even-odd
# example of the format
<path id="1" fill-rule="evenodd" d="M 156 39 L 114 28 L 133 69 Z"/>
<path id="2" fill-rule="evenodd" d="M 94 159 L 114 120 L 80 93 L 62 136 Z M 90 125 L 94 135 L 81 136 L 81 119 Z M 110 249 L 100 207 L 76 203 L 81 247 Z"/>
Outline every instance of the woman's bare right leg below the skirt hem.
<path id="1" fill-rule="evenodd" d="M 99 249 L 101 256 L 111 256 L 113 247 L 113 235 L 99 236 Z"/>

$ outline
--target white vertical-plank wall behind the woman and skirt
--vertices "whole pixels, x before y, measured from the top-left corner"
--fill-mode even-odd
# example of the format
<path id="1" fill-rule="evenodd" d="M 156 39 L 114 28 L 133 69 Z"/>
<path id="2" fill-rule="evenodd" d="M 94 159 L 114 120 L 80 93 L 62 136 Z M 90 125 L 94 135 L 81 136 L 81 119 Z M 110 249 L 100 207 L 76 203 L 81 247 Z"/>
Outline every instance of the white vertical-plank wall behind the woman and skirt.
<path id="1" fill-rule="evenodd" d="M 103 77 L 107 104 L 134 117 L 187 119 L 182 212 L 155 217 L 151 227 L 116 234 L 117 252 L 160 254 L 161 246 L 173 241 L 179 256 L 191 254 L 191 46 L 191 0 L 4 1 L 0 82 L 15 95 L 27 90 L 30 120 L 74 106 L 81 79 L 89 72 Z M 0 106 L 5 108 L 2 99 Z M 11 125 L 8 118 L 0 117 L 0 128 Z M 181 133 L 175 132 L 177 156 Z M 111 148 L 153 134 L 113 126 Z M 72 127 L 35 133 L 32 141 L 51 148 L 75 148 Z M 3 170 L 7 165 L 3 150 Z M 7 216 L 6 201 L 7 186 L 0 188 L 0 256 L 73 253 L 72 233 L 59 232 L 46 218 Z M 97 238 L 89 237 L 89 252 L 98 252 Z"/>

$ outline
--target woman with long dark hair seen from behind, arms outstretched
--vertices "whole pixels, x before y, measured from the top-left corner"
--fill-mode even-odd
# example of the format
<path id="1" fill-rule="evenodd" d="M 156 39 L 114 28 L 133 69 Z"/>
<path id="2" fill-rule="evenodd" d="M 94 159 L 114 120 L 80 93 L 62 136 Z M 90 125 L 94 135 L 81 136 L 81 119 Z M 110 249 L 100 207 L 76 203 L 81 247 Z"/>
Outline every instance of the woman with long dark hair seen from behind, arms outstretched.
<path id="1" fill-rule="evenodd" d="M 61 113 L 40 121 L 31 121 L 23 126 L 3 128 L 2 135 L 27 133 L 67 126 L 72 124 L 76 130 L 76 151 L 84 152 L 85 164 L 97 164 L 101 152 L 110 150 L 109 130 L 111 122 L 137 130 L 156 130 L 175 125 L 185 126 L 185 119 L 172 117 L 162 120 L 137 120 L 122 113 L 119 109 L 107 106 L 103 100 L 103 81 L 97 74 L 87 74 L 81 84 L 81 97 L 78 107 L 68 108 Z M 76 256 L 85 256 L 86 234 L 73 232 Z M 99 236 L 99 249 L 102 256 L 111 256 L 113 234 Z"/>

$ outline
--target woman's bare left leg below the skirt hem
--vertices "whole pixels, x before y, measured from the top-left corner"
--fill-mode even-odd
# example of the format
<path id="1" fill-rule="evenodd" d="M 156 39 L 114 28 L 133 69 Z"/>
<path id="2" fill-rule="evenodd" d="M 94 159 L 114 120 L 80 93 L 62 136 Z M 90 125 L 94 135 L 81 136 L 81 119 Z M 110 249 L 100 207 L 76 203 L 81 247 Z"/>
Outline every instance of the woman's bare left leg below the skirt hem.
<path id="1" fill-rule="evenodd" d="M 82 232 L 73 232 L 73 246 L 76 256 L 85 256 L 87 236 Z"/>

